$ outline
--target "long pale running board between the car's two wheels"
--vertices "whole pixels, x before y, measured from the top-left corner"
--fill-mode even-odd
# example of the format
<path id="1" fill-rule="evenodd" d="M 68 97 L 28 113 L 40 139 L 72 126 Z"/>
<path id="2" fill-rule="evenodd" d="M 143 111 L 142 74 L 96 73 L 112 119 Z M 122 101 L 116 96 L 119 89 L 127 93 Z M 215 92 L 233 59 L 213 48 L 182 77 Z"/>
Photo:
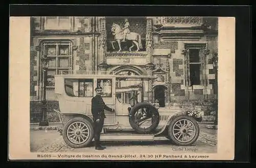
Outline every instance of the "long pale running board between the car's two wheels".
<path id="1" fill-rule="evenodd" d="M 136 135 L 136 134 L 101 134 L 100 140 L 119 140 L 119 141 L 129 141 L 129 140 L 154 140 L 154 135 Z"/>

